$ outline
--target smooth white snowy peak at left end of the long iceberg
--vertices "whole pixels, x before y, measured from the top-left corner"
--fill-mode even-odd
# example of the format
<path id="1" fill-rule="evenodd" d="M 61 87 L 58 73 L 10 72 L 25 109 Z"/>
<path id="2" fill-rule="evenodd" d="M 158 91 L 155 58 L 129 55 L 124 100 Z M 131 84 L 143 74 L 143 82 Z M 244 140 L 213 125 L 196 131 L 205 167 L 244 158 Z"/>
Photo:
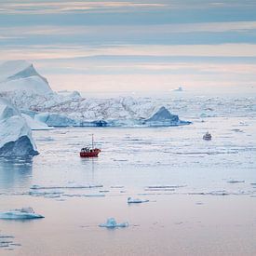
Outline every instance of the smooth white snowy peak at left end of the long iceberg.
<path id="1" fill-rule="evenodd" d="M 0 65 L 0 91 L 26 91 L 41 95 L 52 93 L 47 79 L 27 61 L 7 61 Z"/>

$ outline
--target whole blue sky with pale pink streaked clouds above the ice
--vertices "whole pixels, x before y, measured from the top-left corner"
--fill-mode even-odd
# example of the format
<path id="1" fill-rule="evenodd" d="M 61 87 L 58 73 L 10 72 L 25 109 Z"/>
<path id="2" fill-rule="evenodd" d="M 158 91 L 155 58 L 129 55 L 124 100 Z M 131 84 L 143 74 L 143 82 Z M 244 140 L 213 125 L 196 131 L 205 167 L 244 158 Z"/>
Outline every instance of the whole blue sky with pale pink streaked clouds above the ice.
<path id="1" fill-rule="evenodd" d="M 256 88 L 255 0 L 0 0 L 0 62 L 54 90 Z"/>

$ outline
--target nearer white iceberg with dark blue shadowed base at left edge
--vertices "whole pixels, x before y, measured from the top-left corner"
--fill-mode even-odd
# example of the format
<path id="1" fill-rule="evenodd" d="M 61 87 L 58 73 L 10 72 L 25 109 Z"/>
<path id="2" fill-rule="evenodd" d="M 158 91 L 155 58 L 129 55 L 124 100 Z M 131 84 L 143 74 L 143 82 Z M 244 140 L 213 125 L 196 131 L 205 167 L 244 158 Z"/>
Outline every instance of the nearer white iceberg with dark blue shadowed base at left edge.
<path id="1" fill-rule="evenodd" d="M 31 128 L 18 109 L 0 98 L 0 156 L 38 155 Z"/>

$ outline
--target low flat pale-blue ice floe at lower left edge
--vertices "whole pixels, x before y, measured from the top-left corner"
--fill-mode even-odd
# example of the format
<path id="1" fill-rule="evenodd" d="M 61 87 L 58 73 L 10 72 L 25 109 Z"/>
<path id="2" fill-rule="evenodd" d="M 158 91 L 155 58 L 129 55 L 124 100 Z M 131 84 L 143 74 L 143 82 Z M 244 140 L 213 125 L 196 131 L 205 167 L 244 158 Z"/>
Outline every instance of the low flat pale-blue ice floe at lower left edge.
<path id="1" fill-rule="evenodd" d="M 9 211 L 0 212 L 0 219 L 3 220 L 29 220 L 29 219 L 40 219 L 45 218 L 40 214 L 36 214 L 34 209 L 31 207 L 12 209 Z"/>

